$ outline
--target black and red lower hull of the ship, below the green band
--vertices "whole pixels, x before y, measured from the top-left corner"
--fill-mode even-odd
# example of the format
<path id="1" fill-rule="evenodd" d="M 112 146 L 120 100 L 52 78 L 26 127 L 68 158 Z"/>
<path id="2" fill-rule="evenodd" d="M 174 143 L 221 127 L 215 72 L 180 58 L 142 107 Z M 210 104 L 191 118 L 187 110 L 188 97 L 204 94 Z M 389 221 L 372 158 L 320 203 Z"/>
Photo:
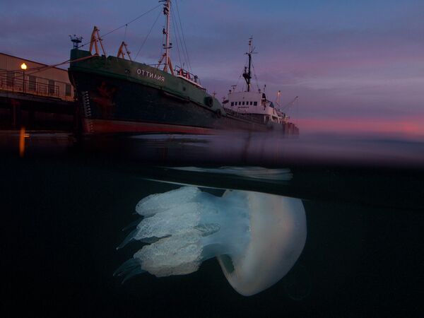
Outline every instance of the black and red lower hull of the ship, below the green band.
<path id="1" fill-rule="evenodd" d="M 205 105 L 158 88 L 109 76 L 69 71 L 76 87 L 83 132 L 268 131 L 258 122 L 214 112 Z M 184 128 L 185 127 L 185 128 Z"/>

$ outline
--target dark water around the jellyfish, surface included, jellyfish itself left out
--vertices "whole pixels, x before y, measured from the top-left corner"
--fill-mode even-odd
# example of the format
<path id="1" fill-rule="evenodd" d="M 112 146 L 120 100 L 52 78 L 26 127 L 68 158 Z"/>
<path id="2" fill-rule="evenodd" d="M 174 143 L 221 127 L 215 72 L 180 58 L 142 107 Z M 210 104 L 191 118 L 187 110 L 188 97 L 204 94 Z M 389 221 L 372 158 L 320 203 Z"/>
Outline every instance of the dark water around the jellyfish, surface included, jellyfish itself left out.
<path id="1" fill-rule="evenodd" d="M 423 314 L 419 139 L 110 136 L 75 146 L 30 133 L 19 158 L 17 137 L 0 138 L 1 317 Z M 213 170 L 223 165 L 242 174 Z M 252 166 L 269 173 L 257 177 Z M 140 246 L 116 247 L 136 204 L 181 184 L 302 199 L 307 240 L 293 269 L 250 297 L 232 289 L 216 259 L 189 275 L 144 273 L 122 284 L 112 274 Z"/>

